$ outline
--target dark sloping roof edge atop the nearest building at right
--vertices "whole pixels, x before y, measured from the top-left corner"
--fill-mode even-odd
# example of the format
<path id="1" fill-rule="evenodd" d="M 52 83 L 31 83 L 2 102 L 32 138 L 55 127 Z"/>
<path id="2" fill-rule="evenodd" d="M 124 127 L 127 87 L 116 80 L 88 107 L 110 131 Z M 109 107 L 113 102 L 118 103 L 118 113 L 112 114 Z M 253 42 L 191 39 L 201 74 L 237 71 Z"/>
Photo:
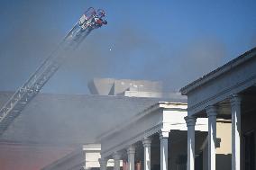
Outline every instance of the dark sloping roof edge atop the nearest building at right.
<path id="1" fill-rule="evenodd" d="M 224 66 L 218 67 L 214 71 L 206 74 L 205 76 L 198 78 L 194 82 L 181 88 L 180 92 L 183 95 L 187 95 L 189 92 L 195 90 L 198 86 L 206 84 L 207 82 L 215 79 L 218 76 L 224 75 L 225 73 L 232 70 L 234 67 L 238 67 L 242 65 L 244 62 L 251 60 L 251 58 L 256 58 L 256 48 L 246 51 L 244 54 L 242 54 L 238 58 L 234 58 L 230 62 L 224 64 Z"/>

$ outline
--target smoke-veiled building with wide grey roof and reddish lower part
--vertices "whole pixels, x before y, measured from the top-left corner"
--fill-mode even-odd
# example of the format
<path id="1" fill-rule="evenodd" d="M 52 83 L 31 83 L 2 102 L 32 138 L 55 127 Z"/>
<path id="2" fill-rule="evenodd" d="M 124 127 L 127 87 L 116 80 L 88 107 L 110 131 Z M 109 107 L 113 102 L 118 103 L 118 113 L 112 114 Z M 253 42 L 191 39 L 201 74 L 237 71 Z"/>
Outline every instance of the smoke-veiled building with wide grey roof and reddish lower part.
<path id="1" fill-rule="evenodd" d="M 0 107 L 12 94 L 0 92 Z M 41 169 L 159 101 L 169 99 L 38 94 L 0 137 L 0 169 Z"/>

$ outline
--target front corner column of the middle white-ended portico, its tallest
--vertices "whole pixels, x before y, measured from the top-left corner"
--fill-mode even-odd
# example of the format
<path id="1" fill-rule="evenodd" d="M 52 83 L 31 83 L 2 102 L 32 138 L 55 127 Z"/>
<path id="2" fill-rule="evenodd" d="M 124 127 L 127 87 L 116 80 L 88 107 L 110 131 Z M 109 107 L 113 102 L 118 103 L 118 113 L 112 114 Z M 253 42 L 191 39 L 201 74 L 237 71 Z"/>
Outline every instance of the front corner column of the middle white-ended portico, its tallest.
<path id="1" fill-rule="evenodd" d="M 168 170 L 169 131 L 160 131 L 160 170 Z"/>

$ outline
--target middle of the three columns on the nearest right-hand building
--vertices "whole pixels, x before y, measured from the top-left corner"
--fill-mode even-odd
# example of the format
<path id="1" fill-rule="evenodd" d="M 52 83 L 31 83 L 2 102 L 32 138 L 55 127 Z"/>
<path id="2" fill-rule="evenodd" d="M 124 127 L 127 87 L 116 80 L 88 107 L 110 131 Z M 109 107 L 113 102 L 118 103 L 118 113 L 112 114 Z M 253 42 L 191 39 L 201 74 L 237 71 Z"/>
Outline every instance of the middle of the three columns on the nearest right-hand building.
<path id="1" fill-rule="evenodd" d="M 208 117 L 208 170 L 215 170 L 216 116 L 215 106 L 206 107 Z"/>

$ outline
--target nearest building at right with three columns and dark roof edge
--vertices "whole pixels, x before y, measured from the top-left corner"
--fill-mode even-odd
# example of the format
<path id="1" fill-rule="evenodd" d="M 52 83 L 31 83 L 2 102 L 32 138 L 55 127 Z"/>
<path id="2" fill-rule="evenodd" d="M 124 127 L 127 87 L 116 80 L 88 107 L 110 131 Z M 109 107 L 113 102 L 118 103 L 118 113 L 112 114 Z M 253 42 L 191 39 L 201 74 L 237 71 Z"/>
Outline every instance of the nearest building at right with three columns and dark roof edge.
<path id="1" fill-rule="evenodd" d="M 195 125 L 208 119 L 208 170 L 218 168 L 216 119 L 232 120 L 232 170 L 255 169 L 256 48 L 181 88 L 187 95 L 187 170 L 195 167 Z M 197 168 L 196 168 L 197 169 Z"/>

